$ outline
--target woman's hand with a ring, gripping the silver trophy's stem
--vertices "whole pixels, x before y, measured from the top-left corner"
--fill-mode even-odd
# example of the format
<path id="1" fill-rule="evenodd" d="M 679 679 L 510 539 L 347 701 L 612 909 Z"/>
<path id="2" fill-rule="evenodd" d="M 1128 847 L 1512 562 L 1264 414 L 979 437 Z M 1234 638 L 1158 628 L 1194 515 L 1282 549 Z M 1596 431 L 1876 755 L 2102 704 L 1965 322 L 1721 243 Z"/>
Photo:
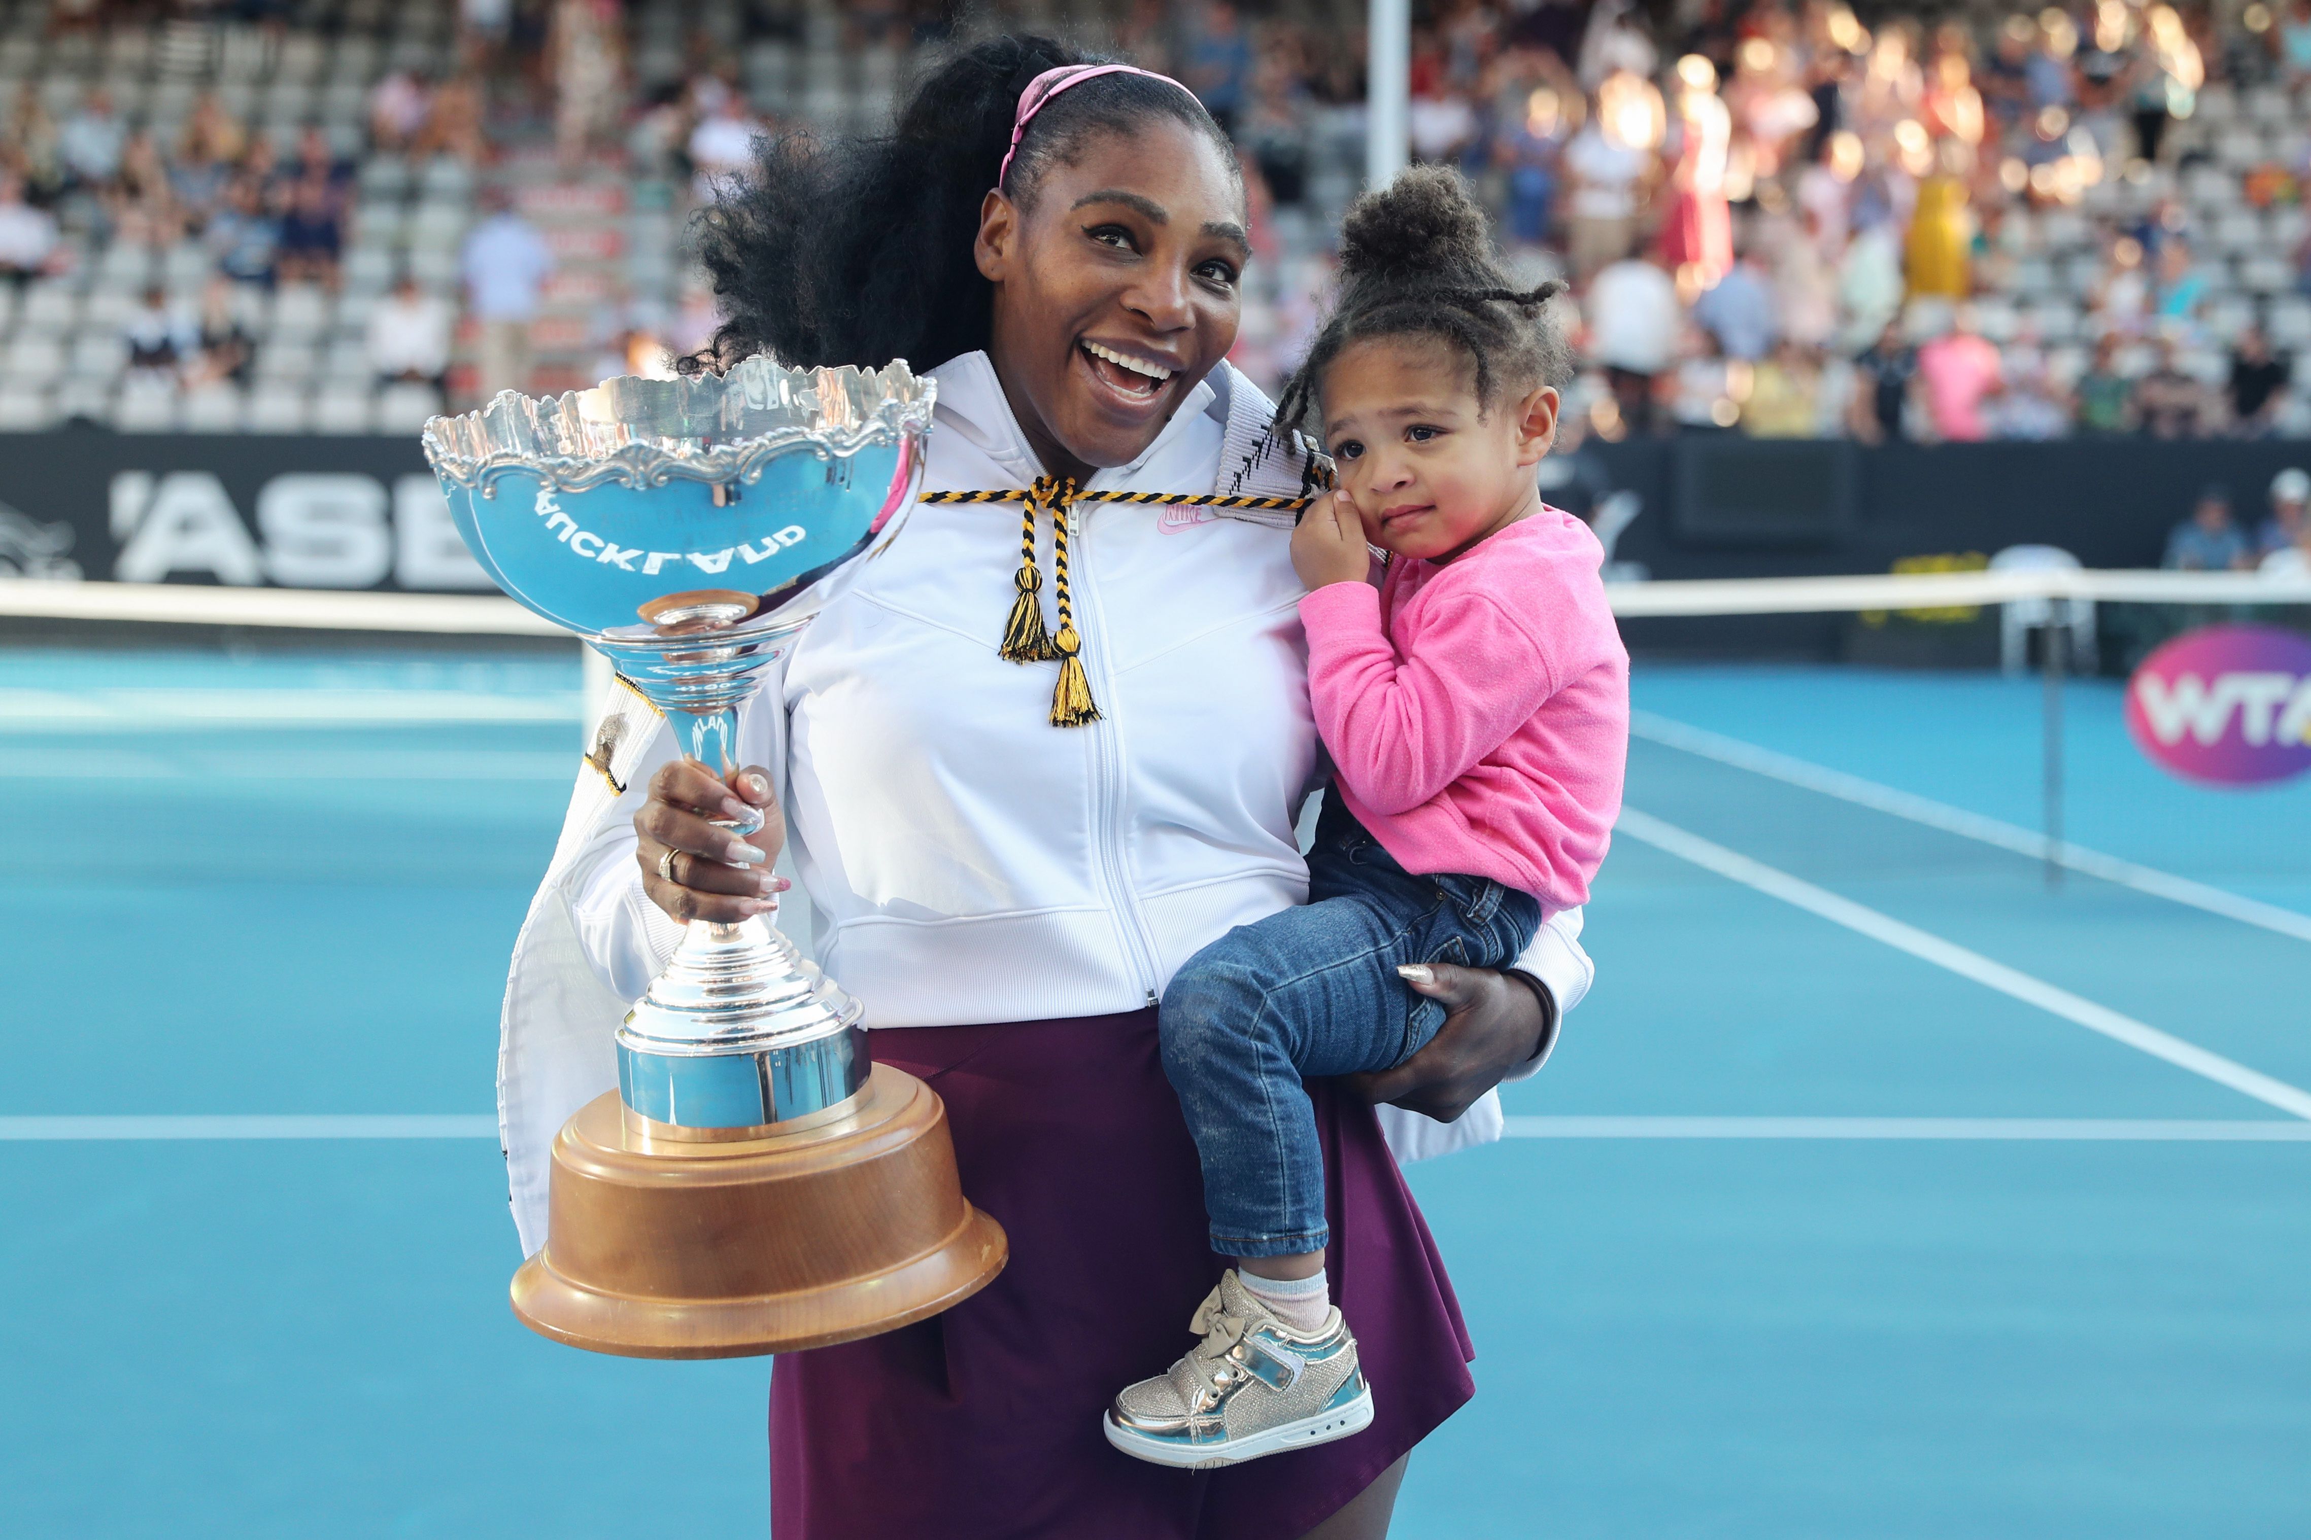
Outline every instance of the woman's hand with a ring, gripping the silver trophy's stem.
<path id="1" fill-rule="evenodd" d="M 721 822 L 716 822 L 721 820 Z M 760 820 L 751 836 L 740 833 Z M 737 824 L 728 829 L 723 824 Z M 758 764 L 719 780 L 698 760 L 673 760 L 649 778 L 649 801 L 633 815 L 633 859 L 642 891 L 675 919 L 735 924 L 776 907 L 786 877 L 770 875 L 786 843 L 786 820 Z"/>

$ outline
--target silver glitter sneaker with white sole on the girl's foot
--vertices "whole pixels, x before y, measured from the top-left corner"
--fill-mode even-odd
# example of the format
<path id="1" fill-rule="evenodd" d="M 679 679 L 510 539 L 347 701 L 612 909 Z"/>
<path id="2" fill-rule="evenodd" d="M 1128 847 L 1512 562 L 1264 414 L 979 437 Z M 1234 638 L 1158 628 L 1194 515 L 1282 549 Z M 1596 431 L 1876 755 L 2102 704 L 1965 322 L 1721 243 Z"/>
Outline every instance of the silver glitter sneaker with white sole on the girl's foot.
<path id="1" fill-rule="evenodd" d="M 1227 1270 L 1188 1330 L 1204 1341 L 1169 1374 L 1125 1388 L 1100 1418 L 1125 1455 L 1209 1471 L 1370 1427 L 1373 1390 L 1338 1309 L 1324 1330 L 1294 1332 Z"/>

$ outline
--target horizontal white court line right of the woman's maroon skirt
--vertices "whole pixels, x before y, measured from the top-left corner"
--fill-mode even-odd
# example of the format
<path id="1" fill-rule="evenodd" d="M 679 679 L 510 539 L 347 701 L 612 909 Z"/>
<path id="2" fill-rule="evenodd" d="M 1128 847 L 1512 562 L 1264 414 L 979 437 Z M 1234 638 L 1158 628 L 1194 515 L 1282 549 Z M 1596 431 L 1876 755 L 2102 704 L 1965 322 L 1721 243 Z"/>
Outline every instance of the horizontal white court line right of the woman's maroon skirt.
<path id="1" fill-rule="evenodd" d="M 2311 1143 L 2274 1117 L 1507 1117 L 1507 1138 L 1957 1138 L 2110 1143 Z"/>

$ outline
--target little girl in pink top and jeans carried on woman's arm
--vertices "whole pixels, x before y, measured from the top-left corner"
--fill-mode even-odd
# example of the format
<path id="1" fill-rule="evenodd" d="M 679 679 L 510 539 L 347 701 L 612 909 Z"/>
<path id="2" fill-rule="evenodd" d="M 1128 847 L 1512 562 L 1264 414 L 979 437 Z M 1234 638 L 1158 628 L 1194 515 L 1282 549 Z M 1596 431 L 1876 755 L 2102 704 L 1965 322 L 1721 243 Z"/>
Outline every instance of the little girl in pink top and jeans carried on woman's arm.
<path id="1" fill-rule="evenodd" d="M 1324 1281 L 1324 1154 L 1303 1076 L 1403 1062 L 1444 1025 L 1405 981 L 1502 967 L 1588 900 L 1620 810 L 1629 656 L 1588 526 L 1548 508 L 1567 349 L 1493 259 L 1458 175 L 1417 169 L 1340 231 L 1340 300 L 1278 423 L 1308 409 L 1338 466 L 1292 536 L 1308 686 L 1336 764 L 1308 903 L 1204 947 L 1162 997 L 1165 1071 L 1236 1258 L 1169 1374 L 1107 1441 L 1225 1466 L 1373 1420 Z M 1370 550 L 1387 577 L 1370 584 Z"/>

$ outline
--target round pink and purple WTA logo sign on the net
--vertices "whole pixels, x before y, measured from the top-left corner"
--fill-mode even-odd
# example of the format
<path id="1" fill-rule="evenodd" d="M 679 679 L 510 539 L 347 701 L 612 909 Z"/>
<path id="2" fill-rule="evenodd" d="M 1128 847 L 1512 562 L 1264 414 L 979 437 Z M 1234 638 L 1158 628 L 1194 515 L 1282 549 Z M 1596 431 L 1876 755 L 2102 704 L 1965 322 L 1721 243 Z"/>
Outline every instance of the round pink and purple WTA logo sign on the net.
<path id="1" fill-rule="evenodd" d="M 2311 769 L 2311 637 L 2209 626 L 2175 637 L 2126 683 L 2126 730 L 2161 769 L 2260 785 Z"/>

